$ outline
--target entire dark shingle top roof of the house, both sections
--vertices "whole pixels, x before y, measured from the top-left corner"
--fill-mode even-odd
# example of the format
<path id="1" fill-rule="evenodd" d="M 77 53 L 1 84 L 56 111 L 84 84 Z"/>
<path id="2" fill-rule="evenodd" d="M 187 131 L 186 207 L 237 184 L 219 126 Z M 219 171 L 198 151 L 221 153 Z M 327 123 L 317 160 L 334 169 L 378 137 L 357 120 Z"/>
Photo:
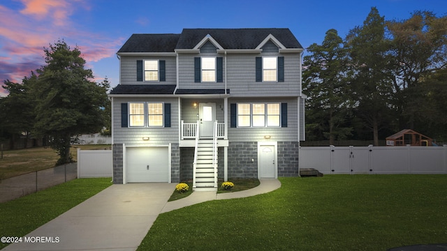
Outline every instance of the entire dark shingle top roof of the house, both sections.
<path id="1" fill-rule="evenodd" d="M 289 29 L 183 29 L 180 34 L 133 34 L 118 53 L 192 50 L 207 40 L 223 50 L 254 50 L 267 40 L 281 49 L 302 49 Z"/>

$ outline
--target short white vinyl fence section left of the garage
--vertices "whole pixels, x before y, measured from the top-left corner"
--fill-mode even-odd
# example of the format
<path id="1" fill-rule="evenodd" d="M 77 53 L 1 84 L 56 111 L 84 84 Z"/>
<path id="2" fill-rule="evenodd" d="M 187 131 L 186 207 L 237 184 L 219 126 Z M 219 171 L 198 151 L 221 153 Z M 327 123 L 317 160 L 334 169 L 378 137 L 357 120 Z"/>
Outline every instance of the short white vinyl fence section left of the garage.
<path id="1" fill-rule="evenodd" d="M 112 177 L 112 150 L 78 149 L 78 178 Z"/>

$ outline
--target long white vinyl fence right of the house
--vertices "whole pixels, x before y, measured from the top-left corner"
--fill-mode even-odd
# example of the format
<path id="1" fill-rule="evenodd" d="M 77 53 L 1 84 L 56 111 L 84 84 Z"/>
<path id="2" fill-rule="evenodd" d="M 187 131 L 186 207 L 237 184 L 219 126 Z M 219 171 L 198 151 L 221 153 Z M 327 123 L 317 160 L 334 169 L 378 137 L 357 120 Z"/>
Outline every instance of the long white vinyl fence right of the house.
<path id="1" fill-rule="evenodd" d="M 447 145 L 307 146 L 299 162 L 323 174 L 447 174 Z"/>

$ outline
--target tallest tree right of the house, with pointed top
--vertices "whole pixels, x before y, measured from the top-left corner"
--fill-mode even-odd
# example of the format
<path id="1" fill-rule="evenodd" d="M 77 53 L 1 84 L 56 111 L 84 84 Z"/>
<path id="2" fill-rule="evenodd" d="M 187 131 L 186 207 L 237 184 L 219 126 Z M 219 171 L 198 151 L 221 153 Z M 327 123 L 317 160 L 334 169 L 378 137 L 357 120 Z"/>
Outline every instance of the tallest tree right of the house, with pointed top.
<path id="1" fill-rule="evenodd" d="M 371 8 L 362 26 L 352 29 L 346 37 L 349 63 L 353 72 L 352 94 L 357 100 L 356 114 L 373 133 L 374 146 L 379 146 L 379 130 L 389 127 L 393 119 L 390 81 L 389 42 L 385 21 L 379 10 Z"/>

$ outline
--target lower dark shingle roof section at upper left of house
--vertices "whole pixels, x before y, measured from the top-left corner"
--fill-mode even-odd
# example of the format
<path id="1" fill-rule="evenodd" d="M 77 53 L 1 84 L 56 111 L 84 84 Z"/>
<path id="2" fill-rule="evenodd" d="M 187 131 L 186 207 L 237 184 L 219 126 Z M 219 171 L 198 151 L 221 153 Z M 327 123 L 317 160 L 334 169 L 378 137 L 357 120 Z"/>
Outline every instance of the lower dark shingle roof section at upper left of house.
<path id="1" fill-rule="evenodd" d="M 133 34 L 120 52 L 174 52 L 180 34 Z"/>

